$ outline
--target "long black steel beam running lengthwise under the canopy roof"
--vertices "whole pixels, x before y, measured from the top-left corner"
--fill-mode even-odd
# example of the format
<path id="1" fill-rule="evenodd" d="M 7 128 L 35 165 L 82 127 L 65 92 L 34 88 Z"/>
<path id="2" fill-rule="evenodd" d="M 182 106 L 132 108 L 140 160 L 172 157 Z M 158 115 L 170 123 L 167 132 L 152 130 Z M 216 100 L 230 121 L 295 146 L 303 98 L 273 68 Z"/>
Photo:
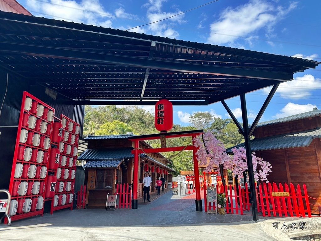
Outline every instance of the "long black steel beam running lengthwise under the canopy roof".
<path id="1" fill-rule="evenodd" d="M 289 73 L 190 64 L 182 63 L 179 61 L 164 61 L 158 59 L 137 58 L 116 54 L 96 53 L 56 47 L 36 46 L 29 44 L 1 42 L 0 51 L 4 53 L 21 53 L 31 56 L 35 55 L 52 58 L 67 58 L 84 61 L 95 61 L 97 63 L 115 63 L 121 65 L 130 65 L 146 68 L 163 68 L 173 71 L 184 71 L 188 73 L 196 72 L 220 74 L 226 76 L 239 76 L 246 78 L 270 79 L 282 82 L 293 79 L 293 74 Z"/>

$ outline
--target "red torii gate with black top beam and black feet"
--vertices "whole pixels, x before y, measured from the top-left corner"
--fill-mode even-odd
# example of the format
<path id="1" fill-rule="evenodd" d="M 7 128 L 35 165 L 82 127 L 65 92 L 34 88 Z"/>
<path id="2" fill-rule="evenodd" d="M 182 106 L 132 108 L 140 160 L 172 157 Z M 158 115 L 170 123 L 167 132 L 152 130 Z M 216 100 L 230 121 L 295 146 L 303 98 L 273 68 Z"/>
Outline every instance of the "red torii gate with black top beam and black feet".
<path id="1" fill-rule="evenodd" d="M 133 180 L 133 199 L 132 199 L 132 209 L 138 208 L 138 201 L 137 201 L 137 188 L 138 188 L 138 155 L 139 154 L 148 154 L 148 153 L 155 153 L 155 152 L 168 152 L 168 151 L 183 151 L 183 150 L 193 150 L 193 162 L 194 162 L 194 175 L 199 176 L 198 170 L 198 161 L 197 161 L 197 147 L 194 146 L 194 138 L 203 134 L 203 130 L 191 130 L 191 131 L 179 131 L 179 132 L 165 132 L 159 134 L 151 134 L 151 135 L 142 135 L 142 136 L 134 136 L 128 138 L 134 142 L 134 150 L 132 150 L 132 154 L 134 154 L 134 180 Z M 178 138 L 178 137 L 187 137 L 191 136 L 193 138 L 193 145 L 186 146 L 186 147 L 162 147 L 162 148 L 152 148 L 152 149 L 140 149 L 139 148 L 139 141 L 145 140 L 155 140 L 161 138 Z M 202 200 L 201 200 L 201 190 L 200 190 L 200 183 L 199 179 L 195 179 L 195 208 L 196 211 L 203 211 L 202 208 Z"/>

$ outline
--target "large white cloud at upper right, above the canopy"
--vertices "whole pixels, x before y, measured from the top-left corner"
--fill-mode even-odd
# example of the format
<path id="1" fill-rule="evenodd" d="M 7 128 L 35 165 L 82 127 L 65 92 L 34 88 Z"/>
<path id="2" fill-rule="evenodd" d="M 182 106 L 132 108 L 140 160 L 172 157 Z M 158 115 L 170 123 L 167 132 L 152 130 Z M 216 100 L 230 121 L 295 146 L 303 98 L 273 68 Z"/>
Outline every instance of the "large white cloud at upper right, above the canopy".
<path id="1" fill-rule="evenodd" d="M 274 7 L 271 2 L 252 0 L 234 9 L 228 7 L 221 12 L 219 20 L 210 25 L 208 43 L 231 45 L 239 37 L 248 37 L 262 28 L 265 28 L 266 37 L 271 38 L 275 36 L 273 27 L 277 21 L 296 6 L 297 2 L 291 2 L 288 8 L 284 8 Z"/>

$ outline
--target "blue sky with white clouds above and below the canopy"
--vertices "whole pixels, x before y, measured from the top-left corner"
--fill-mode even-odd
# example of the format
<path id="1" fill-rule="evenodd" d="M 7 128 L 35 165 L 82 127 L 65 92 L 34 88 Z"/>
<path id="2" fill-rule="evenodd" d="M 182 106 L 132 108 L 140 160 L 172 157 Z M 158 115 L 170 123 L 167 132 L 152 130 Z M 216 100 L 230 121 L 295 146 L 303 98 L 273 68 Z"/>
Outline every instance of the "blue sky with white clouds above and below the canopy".
<path id="1" fill-rule="evenodd" d="M 210 0 L 18 0 L 35 16 L 127 30 L 185 12 Z M 319 0 L 219 0 L 164 21 L 135 28 L 156 36 L 250 49 L 321 61 Z M 321 66 L 281 84 L 260 121 L 321 109 Z M 268 89 L 246 94 L 249 122 Z M 226 101 L 241 121 L 239 97 Z M 143 106 L 153 111 L 153 106 Z M 228 118 L 221 103 L 174 106 L 174 123 L 188 125 L 195 112 Z"/>

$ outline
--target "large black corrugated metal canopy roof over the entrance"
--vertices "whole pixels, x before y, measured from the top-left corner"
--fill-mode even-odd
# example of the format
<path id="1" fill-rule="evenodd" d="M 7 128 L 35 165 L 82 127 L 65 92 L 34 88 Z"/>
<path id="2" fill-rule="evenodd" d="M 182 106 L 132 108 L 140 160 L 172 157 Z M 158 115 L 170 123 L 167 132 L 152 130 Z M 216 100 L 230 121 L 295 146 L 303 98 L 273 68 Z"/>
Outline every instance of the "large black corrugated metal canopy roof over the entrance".
<path id="1" fill-rule="evenodd" d="M 319 63 L 0 11 L 0 67 L 77 104 L 207 105 Z"/>

